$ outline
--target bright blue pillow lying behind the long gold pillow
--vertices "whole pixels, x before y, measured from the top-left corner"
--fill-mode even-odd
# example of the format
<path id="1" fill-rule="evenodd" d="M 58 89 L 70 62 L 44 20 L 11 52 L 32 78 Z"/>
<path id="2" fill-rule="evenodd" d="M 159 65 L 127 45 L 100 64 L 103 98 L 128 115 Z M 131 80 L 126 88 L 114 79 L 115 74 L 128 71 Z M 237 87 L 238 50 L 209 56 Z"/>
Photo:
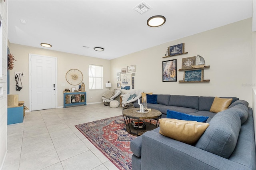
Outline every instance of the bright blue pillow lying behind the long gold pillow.
<path id="1" fill-rule="evenodd" d="M 197 122 L 203 122 L 203 123 L 206 123 L 207 119 L 209 118 L 205 116 L 188 115 L 185 113 L 180 113 L 180 112 L 170 111 L 170 110 L 167 110 L 166 117 L 171 119 L 179 119 L 184 121 L 197 121 Z"/>

